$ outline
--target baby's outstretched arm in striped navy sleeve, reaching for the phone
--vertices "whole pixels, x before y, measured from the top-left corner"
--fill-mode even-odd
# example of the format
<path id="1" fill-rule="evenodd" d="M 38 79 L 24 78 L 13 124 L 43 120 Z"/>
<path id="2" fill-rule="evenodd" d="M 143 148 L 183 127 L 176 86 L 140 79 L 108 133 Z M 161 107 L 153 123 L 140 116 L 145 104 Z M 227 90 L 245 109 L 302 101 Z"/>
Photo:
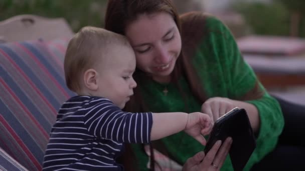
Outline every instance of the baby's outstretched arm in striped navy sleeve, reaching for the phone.
<path id="1" fill-rule="evenodd" d="M 201 133 L 209 131 L 211 127 L 210 117 L 201 112 L 130 113 L 102 99 L 88 108 L 84 123 L 95 137 L 129 143 L 148 143 L 185 129 L 204 144 Z"/>

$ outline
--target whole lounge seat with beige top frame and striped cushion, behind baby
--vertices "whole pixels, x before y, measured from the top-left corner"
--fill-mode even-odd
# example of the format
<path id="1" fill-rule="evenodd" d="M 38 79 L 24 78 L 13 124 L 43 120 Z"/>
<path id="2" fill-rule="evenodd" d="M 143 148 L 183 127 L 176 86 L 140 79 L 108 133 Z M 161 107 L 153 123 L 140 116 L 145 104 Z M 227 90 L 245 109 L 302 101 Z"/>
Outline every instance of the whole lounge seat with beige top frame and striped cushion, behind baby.
<path id="1" fill-rule="evenodd" d="M 51 126 L 74 95 L 63 60 L 74 34 L 64 18 L 0 21 L 0 170 L 41 170 Z"/>

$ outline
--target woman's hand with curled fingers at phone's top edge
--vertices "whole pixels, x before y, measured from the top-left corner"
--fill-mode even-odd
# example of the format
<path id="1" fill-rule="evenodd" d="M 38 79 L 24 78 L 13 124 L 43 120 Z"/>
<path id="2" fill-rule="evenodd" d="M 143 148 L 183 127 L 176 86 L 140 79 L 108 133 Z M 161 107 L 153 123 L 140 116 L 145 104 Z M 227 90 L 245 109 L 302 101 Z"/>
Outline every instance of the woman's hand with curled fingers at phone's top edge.
<path id="1" fill-rule="evenodd" d="M 201 106 L 201 111 L 207 113 L 215 122 L 220 116 L 232 110 L 236 105 L 233 100 L 225 97 L 212 97 L 207 99 Z"/>

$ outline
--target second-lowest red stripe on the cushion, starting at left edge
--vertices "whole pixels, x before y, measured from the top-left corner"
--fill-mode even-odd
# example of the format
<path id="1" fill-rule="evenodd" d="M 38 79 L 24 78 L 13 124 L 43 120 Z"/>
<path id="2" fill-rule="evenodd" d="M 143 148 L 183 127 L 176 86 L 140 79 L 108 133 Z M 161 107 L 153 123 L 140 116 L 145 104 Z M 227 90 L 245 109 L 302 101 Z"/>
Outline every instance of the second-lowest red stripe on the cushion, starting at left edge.
<path id="1" fill-rule="evenodd" d="M 45 131 L 45 129 L 40 125 L 40 123 L 33 117 L 32 113 L 29 111 L 29 109 L 21 102 L 21 100 L 16 96 L 16 94 L 12 91 L 12 89 L 8 86 L 8 84 L 0 78 L 0 82 L 5 86 L 5 88 L 10 92 L 10 94 L 14 97 L 16 102 L 19 103 L 19 105 L 24 109 L 24 111 L 28 114 L 28 116 L 31 118 L 31 120 L 35 123 L 35 125 L 39 128 L 39 130 L 42 132 L 42 134 L 49 139 L 49 134 Z"/>

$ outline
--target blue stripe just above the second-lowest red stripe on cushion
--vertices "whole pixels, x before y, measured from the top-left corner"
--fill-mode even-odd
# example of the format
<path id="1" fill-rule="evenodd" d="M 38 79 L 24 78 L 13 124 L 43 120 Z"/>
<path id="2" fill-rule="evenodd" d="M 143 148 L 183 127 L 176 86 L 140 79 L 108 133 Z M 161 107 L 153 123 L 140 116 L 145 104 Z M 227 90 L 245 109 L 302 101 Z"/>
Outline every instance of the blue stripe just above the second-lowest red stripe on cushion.
<path id="1" fill-rule="evenodd" d="M 37 109 L 37 107 L 33 104 L 32 100 L 28 98 L 28 96 L 22 91 L 20 85 L 16 84 L 16 82 L 12 79 L 12 77 L 6 72 L 6 70 L 3 69 L 3 67 L 0 65 L 0 73 L 2 73 L 1 77 L 5 80 L 7 84 L 10 85 L 11 89 L 14 89 L 15 94 L 20 98 L 20 100 L 24 103 L 24 105 L 27 106 L 27 108 L 31 111 L 31 113 L 34 115 L 34 117 L 41 123 L 41 125 L 44 127 L 46 132 L 50 132 L 50 127 L 53 123 L 50 123 L 44 115 L 40 113 L 40 111 Z M 2 98 L 2 97 L 0 97 Z M 58 104 L 57 108 L 59 108 L 61 105 Z"/>

